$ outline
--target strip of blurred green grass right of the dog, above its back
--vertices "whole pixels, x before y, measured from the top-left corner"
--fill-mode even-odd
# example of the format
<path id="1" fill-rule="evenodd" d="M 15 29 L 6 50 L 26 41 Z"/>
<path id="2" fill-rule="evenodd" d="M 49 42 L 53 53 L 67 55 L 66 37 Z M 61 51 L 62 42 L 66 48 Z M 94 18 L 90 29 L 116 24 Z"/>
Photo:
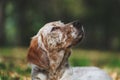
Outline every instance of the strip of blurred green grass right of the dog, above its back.
<path id="1" fill-rule="evenodd" d="M 74 49 L 70 60 L 75 66 L 120 67 L 119 52 Z"/>

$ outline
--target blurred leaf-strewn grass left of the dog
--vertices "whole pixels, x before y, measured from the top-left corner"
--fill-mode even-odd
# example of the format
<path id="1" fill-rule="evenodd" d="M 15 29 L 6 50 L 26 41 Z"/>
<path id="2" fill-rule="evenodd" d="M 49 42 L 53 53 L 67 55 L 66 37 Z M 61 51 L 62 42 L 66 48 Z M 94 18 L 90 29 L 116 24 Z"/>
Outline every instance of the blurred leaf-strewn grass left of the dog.
<path id="1" fill-rule="evenodd" d="M 24 80 L 30 76 L 26 48 L 0 49 L 0 80 Z"/>

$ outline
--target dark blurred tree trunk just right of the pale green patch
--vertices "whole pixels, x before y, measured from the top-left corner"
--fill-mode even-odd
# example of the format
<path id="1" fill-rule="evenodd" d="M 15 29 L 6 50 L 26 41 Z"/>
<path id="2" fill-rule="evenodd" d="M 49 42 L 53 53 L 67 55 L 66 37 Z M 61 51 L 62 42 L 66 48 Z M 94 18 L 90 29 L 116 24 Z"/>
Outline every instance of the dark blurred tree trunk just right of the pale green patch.
<path id="1" fill-rule="evenodd" d="M 26 19 L 26 7 L 27 1 L 19 0 L 16 1 L 16 11 L 18 15 L 17 25 L 19 29 L 19 38 L 18 45 L 19 46 L 27 46 L 29 44 L 29 24 Z"/>

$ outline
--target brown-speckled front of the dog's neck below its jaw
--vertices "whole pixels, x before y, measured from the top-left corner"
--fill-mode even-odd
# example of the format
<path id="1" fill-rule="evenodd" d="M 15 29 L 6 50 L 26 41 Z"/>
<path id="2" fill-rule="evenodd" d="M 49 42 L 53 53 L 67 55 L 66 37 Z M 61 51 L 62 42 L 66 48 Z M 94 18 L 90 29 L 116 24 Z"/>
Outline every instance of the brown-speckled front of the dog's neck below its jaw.
<path id="1" fill-rule="evenodd" d="M 65 69 L 69 68 L 68 58 L 70 54 L 71 54 L 70 49 L 61 50 L 59 53 L 56 53 L 56 56 L 58 57 L 57 60 L 51 62 L 49 74 L 48 74 L 48 80 L 59 80 L 62 77 L 62 75 L 65 72 Z"/>

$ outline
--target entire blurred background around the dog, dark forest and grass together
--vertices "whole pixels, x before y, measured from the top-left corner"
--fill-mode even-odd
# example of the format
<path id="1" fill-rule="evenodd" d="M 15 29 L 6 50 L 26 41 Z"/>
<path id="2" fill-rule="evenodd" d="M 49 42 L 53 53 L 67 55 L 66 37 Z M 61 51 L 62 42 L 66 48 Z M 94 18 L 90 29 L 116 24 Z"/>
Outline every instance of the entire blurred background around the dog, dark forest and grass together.
<path id="1" fill-rule="evenodd" d="M 71 65 L 98 66 L 120 78 L 120 0 L 0 0 L 0 80 L 30 80 L 31 37 L 57 20 L 80 20 L 85 29 Z"/>

